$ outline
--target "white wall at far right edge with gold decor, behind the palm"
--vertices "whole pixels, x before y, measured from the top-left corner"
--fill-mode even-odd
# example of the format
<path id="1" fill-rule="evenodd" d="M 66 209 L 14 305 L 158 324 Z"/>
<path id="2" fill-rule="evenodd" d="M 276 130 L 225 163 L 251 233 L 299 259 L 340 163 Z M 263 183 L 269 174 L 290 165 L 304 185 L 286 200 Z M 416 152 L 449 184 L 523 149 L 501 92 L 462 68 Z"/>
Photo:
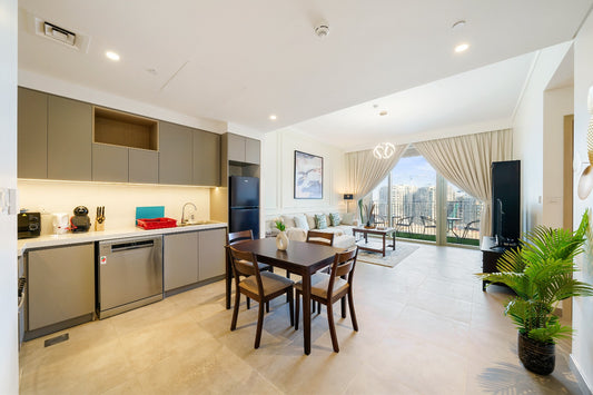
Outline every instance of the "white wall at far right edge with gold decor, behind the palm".
<path id="1" fill-rule="evenodd" d="M 587 91 L 593 85 L 593 16 L 590 16 L 574 42 L 574 151 L 583 160 L 586 156 L 586 130 L 590 115 L 587 112 Z M 575 175 L 574 185 L 579 182 L 580 172 Z M 586 208 L 593 206 L 593 195 L 580 200 L 574 192 L 574 227 L 579 225 Z M 587 254 L 577 259 L 581 271 L 576 278 L 593 284 L 592 241 L 586 248 Z M 593 297 L 577 298 L 573 302 L 573 327 L 576 329 L 572 347 L 572 362 L 577 372 L 593 389 Z"/>

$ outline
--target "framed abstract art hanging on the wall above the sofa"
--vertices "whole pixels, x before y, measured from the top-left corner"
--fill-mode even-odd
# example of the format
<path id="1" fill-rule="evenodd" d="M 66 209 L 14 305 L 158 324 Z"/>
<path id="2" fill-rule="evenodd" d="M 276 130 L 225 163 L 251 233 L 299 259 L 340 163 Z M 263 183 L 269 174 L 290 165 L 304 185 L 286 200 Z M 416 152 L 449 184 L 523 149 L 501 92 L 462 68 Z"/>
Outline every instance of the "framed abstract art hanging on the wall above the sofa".
<path id="1" fill-rule="evenodd" d="M 323 199 L 324 158 L 295 151 L 295 199 Z"/>

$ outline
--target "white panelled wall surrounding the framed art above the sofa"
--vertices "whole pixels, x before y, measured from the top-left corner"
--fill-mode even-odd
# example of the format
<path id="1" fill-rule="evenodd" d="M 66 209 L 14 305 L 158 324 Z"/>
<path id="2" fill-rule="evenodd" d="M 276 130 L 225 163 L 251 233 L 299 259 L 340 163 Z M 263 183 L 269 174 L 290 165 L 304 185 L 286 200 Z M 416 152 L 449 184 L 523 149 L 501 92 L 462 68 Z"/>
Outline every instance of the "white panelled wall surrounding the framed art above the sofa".
<path id="1" fill-rule="evenodd" d="M 323 199 L 295 199 L 295 150 L 324 158 Z M 284 129 L 266 134 L 261 140 L 261 190 L 264 217 L 283 213 L 328 213 L 346 210 L 344 151 Z"/>

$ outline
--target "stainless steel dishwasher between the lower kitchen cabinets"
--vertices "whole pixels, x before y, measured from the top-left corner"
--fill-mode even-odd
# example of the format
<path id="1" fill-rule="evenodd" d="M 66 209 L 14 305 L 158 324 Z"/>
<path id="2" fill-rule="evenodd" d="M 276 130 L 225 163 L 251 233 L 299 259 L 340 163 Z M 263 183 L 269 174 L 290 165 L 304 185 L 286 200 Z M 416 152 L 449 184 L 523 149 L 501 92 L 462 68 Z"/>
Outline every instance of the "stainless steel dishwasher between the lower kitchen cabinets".
<path id="1" fill-rule="evenodd" d="M 99 241 L 99 319 L 162 299 L 162 236 Z"/>

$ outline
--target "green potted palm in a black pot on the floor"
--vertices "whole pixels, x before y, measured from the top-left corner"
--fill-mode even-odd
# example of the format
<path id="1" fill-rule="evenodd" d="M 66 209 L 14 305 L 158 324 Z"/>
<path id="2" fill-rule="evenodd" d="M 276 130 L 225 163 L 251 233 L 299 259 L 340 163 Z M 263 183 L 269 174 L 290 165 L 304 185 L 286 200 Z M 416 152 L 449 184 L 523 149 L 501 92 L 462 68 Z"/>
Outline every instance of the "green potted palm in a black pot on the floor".
<path id="1" fill-rule="evenodd" d="M 593 287 L 573 278 L 573 259 L 583 253 L 589 229 L 585 211 L 576 231 L 538 226 L 523 235 L 520 247 L 507 249 L 498 259 L 500 273 L 480 274 L 491 283 L 507 285 L 516 294 L 505 315 L 518 329 L 518 357 L 528 371 L 551 374 L 555 344 L 570 337 L 572 328 L 560 324 L 556 303 L 572 296 L 592 296 Z"/>

